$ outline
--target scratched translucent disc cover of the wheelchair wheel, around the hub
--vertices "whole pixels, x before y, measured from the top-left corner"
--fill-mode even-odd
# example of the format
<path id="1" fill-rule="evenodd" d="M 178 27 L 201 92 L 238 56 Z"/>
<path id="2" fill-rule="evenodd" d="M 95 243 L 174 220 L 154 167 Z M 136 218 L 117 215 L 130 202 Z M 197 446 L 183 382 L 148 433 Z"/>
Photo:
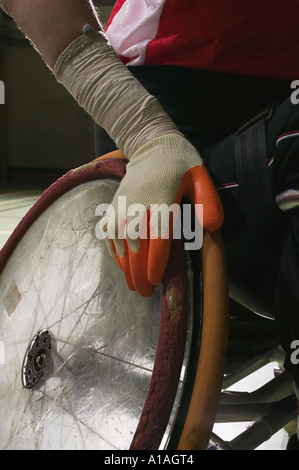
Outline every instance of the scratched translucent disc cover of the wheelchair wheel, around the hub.
<path id="1" fill-rule="evenodd" d="M 130 446 L 152 375 L 161 292 L 142 299 L 128 291 L 95 236 L 95 208 L 117 185 L 91 181 L 60 197 L 2 272 L 2 449 Z M 42 369 L 30 388 L 24 368 L 27 376 Z"/>

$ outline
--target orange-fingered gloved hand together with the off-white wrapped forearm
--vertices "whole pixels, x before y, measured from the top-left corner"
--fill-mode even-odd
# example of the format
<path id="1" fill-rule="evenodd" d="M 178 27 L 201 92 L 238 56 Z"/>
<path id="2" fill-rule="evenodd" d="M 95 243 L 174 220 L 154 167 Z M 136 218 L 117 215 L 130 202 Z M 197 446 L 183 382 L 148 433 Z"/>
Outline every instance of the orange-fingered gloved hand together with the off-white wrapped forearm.
<path id="1" fill-rule="evenodd" d="M 165 204 L 167 209 L 187 196 L 194 204 L 203 204 L 204 228 L 217 230 L 223 221 L 218 193 L 198 152 L 123 65 L 101 32 L 87 25 L 84 34 L 58 58 L 54 74 L 129 160 L 112 202 L 114 211 L 108 211 L 102 226 L 107 225 L 128 286 L 148 296 L 162 280 L 171 244 L 171 232 L 163 237 L 168 221 L 163 215 L 162 225 L 155 227 L 151 205 Z M 139 204 L 143 230 L 148 230 L 145 237 L 136 239 L 130 230 L 125 233 L 125 224 L 126 228 L 132 225 L 132 214 L 126 208 L 119 210 L 119 196 L 126 197 L 130 210 L 132 204 Z"/>

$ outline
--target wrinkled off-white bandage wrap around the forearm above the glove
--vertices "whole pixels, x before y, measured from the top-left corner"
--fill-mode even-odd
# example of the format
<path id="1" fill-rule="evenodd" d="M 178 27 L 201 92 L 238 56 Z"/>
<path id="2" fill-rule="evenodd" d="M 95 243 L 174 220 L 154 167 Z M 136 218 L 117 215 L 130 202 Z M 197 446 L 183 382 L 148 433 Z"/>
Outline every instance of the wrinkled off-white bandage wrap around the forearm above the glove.
<path id="1" fill-rule="evenodd" d="M 157 137 L 180 134 L 99 31 L 86 28 L 60 55 L 53 72 L 128 159 Z"/>

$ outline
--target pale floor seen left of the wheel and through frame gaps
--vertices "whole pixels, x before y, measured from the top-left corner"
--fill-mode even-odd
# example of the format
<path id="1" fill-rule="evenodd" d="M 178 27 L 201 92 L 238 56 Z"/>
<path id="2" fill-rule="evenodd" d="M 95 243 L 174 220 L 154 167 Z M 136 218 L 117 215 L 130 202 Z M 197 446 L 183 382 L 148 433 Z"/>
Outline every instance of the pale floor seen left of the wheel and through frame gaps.
<path id="1" fill-rule="evenodd" d="M 14 189 L 0 191 L 0 249 L 13 232 L 18 222 L 36 202 L 43 189 Z M 251 390 L 273 377 L 275 364 L 264 367 L 247 379 L 237 384 L 238 390 Z M 236 388 L 236 387 L 235 387 Z M 231 440 L 236 434 L 242 432 L 249 423 L 233 425 L 217 424 L 214 432 L 224 440 Z M 261 450 L 283 450 L 286 448 L 288 435 L 286 431 L 279 431 L 269 441 L 264 443 Z"/>

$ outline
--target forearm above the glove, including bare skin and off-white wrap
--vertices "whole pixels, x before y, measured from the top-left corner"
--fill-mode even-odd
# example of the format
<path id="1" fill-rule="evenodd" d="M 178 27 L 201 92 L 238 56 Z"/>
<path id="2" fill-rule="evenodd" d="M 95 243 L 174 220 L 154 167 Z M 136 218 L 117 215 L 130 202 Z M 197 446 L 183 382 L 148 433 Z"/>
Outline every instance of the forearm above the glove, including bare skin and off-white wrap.
<path id="1" fill-rule="evenodd" d="M 59 82 L 128 158 L 144 143 L 178 132 L 102 34 L 91 0 L 7 0 L 0 5 L 31 40 Z M 84 34 L 84 26 L 93 31 Z M 97 36 L 97 37 L 96 37 Z"/>

